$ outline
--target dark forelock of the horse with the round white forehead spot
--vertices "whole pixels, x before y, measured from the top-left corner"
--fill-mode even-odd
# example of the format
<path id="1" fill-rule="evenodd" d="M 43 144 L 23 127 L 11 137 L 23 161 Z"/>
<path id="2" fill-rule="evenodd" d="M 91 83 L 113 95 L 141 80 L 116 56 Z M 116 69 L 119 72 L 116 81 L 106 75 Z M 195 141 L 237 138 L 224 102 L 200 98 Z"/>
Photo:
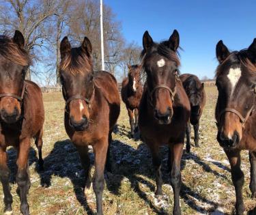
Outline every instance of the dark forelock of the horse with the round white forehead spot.
<path id="1" fill-rule="evenodd" d="M 150 53 L 147 53 L 145 51 L 145 49 L 143 49 L 143 51 L 141 51 L 141 60 L 143 61 L 143 66 L 144 66 L 144 62 L 145 60 L 152 55 L 152 53 L 158 53 L 159 55 L 166 57 L 167 59 L 169 59 L 170 61 L 174 61 L 177 66 L 180 66 L 180 54 L 178 53 L 178 51 L 173 51 L 171 50 L 171 48 L 169 48 L 169 41 L 168 40 L 164 40 L 160 43 L 155 43 L 152 46 Z M 180 74 L 180 71 L 177 71 Z"/>

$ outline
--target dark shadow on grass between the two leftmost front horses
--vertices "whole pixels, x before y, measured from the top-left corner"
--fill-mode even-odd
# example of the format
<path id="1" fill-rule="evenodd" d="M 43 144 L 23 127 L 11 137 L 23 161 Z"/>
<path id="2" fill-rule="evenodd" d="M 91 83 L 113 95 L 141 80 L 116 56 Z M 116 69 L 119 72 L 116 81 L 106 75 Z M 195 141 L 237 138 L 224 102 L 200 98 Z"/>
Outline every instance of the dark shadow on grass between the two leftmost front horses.
<path id="1" fill-rule="evenodd" d="M 89 152 L 91 162 L 94 156 Z M 44 158 L 44 171 L 40 172 L 41 186 L 51 186 L 53 175 L 68 177 L 72 182 L 76 199 L 79 201 L 87 214 L 94 214 L 85 197 L 85 173 L 81 166 L 81 160 L 76 147 L 69 139 L 57 141 L 46 158 Z"/>

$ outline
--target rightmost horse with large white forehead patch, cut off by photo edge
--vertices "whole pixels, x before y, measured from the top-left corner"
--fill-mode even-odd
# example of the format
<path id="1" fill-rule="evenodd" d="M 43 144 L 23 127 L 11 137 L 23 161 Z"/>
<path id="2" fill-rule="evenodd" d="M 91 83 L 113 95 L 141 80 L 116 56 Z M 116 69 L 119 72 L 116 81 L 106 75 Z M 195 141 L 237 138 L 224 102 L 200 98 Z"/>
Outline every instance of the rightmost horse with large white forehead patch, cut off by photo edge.
<path id="1" fill-rule="evenodd" d="M 220 40 L 216 57 L 219 62 L 216 69 L 217 140 L 229 158 L 236 190 L 236 214 L 243 214 L 244 173 L 240 168 L 240 152 L 244 149 L 249 151 L 251 164 L 249 188 L 252 197 L 256 197 L 256 38 L 248 48 L 233 52 Z"/>

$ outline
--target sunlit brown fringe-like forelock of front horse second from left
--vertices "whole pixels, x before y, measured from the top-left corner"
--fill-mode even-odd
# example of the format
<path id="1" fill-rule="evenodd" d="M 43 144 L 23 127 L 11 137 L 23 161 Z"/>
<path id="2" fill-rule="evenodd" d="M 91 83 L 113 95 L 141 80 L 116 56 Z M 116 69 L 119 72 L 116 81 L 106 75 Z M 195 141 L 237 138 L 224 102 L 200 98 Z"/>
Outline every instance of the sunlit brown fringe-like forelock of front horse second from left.
<path id="1" fill-rule="evenodd" d="M 88 57 L 79 48 L 72 48 L 70 53 L 61 59 L 59 66 L 60 70 L 70 72 L 72 75 L 84 74 L 85 72 L 91 72 L 93 63 L 91 57 Z"/>

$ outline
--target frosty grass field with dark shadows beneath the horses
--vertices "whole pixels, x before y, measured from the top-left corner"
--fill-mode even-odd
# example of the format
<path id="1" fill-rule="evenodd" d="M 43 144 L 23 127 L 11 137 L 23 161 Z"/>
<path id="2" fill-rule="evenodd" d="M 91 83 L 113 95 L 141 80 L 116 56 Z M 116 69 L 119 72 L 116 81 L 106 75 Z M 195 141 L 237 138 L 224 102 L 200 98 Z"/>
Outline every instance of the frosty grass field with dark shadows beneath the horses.
<path id="1" fill-rule="evenodd" d="M 208 100 L 199 129 L 200 148 L 182 157 L 182 214 L 232 214 L 235 192 L 231 182 L 229 162 L 216 141 L 214 108 L 216 88 L 206 87 Z M 32 144 L 29 164 L 31 188 L 29 205 L 31 214 L 91 214 L 96 211 L 94 192 L 84 194 L 84 173 L 79 156 L 68 140 L 63 126 L 64 102 L 60 93 L 44 94 L 46 120 L 44 124 L 44 169 L 36 173 L 37 150 Z M 124 104 L 113 134 L 111 154 L 113 174 L 106 175 L 103 195 L 104 214 L 171 214 L 173 191 L 167 174 L 167 147 L 162 147 L 162 173 L 164 179 L 162 199 L 154 197 L 155 180 L 152 159 L 146 145 L 128 137 L 130 131 Z M 192 134 L 191 143 L 193 144 Z M 13 211 L 19 214 L 20 200 L 14 183 L 16 152 L 8 149 L 9 167 L 12 169 L 11 187 L 14 197 Z M 91 152 L 93 162 L 93 154 Z M 246 210 L 256 202 L 250 199 L 248 188 L 248 152 L 242 152 L 242 170 L 245 174 L 244 201 Z M 89 190 L 91 191 L 91 190 Z M 3 192 L 0 188 L 0 214 L 3 212 Z M 254 213 L 253 213 L 254 214 Z"/>

